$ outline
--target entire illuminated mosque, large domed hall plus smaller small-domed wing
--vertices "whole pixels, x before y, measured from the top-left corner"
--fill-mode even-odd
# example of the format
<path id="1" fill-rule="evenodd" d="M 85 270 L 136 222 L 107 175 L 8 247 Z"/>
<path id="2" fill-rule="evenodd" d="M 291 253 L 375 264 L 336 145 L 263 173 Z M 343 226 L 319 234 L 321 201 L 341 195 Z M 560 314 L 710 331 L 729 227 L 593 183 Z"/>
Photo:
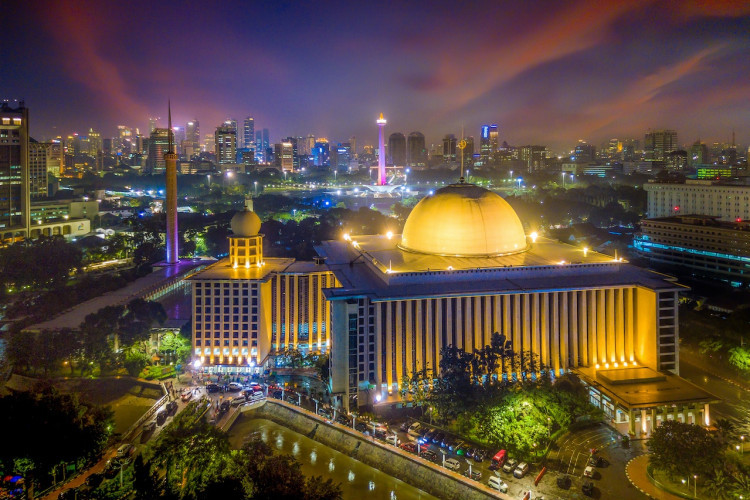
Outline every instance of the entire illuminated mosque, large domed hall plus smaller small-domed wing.
<path id="1" fill-rule="evenodd" d="M 334 403 L 398 405 L 405 375 L 437 371 L 445 346 L 494 332 L 516 361 L 503 377 L 574 371 L 631 433 L 668 419 L 708 425 L 715 398 L 679 374 L 678 293 L 666 275 L 527 235 L 496 193 L 460 182 L 423 198 L 401 235 L 350 235 L 315 262 L 264 258 L 251 207 L 229 257 L 191 278 L 194 354 L 247 373 L 287 348 L 328 352 Z"/>

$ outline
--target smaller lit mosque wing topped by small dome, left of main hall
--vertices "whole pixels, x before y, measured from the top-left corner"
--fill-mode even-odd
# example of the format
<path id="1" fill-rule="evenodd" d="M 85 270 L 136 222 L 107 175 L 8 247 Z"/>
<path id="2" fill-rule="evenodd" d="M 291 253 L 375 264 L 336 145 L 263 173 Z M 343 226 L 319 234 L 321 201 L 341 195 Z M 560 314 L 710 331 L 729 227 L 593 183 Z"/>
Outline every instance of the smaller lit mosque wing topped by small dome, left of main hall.
<path id="1" fill-rule="evenodd" d="M 251 203 L 232 218 L 229 257 L 190 278 L 193 353 L 212 373 L 250 373 L 285 349 L 326 352 L 336 286 L 316 262 L 264 258 L 260 219 Z"/>

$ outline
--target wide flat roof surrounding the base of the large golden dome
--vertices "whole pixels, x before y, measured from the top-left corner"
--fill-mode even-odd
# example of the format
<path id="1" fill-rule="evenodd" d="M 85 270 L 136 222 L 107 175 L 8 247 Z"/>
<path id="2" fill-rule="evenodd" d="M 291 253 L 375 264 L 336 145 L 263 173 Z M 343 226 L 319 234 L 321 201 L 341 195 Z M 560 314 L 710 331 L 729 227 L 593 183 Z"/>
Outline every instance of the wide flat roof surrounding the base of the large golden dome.
<path id="1" fill-rule="evenodd" d="M 584 260 L 581 249 L 546 238 L 537 241 L 536 251 L 532 249 L 525 254 L 486 259 L 412 254 L 398 249 L 393 239 L 389 241 L 385 236 L 375 236 L 371 240 L 362 238 L 365 243 L 360 244 L 358 239 L 352 238 L 357 242 L 356 247 L 346 241 L 325 241 L 317 246 L 316 250 L 327 258 L 326 265 L 341 283 L 340 288 L 325 289 L 326 298 L 367 296 L 377 301 L 622 286 L 642 286 L 659 291 L 687 289 L 670 276 L 596 252 L 588 252 Z M 565 259 L 563 263 L 563 259 L 549 258 L 552 254 L 568 258 L 577 256 L 578 260 Z M 401 260 L 397 260 L 397 266 L 393 260 L 384 266 L 380 260 L 383 255 Z M 440 263 L 440 266 L 414 270 L 422 266 L 406 266 L 404 263 L 410 258 L 421 259 L 422 264 L 427 261 Z M 514 261 L 520 264 L 513 265 Z M 403 269 L 408 270 L 401 271 Z"/>

